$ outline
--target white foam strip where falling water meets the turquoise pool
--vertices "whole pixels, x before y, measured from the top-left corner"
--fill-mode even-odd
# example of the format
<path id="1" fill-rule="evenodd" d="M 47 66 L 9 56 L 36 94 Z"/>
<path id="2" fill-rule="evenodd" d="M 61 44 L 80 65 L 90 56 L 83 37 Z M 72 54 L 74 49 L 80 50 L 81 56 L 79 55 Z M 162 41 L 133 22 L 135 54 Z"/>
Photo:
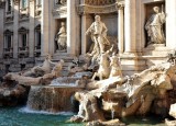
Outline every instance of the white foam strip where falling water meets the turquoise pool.
<path id="1" fill-rule="evenodd" d="M 45 114 L 45 115 L 74 115 L 73 112 L 59 112 L 59 113 L 52 113 L 46 111 L 35 111 L 29 107 L 22 107 L 19 110 L 20 113 L 30 113 L 30 114 Z"/>

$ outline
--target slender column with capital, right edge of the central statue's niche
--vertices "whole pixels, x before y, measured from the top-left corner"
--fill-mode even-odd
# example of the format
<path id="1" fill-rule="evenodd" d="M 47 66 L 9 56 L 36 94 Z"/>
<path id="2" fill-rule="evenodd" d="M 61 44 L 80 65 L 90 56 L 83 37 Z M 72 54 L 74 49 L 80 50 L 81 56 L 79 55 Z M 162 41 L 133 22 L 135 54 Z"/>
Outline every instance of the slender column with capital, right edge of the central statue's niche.
<path id="1" fill-rule="evenodd" d="M 124 51 L 124 13 L 123 13 L 123 5 L 119 7 L 118 13 L 118 46 L 119 46 L 119 53 L 122 54 Z"/>

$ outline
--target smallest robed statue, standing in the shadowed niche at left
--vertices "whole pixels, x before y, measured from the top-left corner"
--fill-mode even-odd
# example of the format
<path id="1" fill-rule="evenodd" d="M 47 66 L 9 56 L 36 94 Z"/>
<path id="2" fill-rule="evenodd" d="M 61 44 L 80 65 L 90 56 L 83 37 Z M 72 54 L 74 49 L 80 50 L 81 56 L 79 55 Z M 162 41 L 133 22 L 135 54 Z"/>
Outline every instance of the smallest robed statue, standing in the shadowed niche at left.
<path id="1" fill-rule="evenodd" d="M 66 44 L 67 35 L 66 35 L 65 22 L 62 22 L 62 27 L 59 28 L 55 39 L 57 41 L 58 50 L 65 50 L 67 47 L 67 44 Z"/>

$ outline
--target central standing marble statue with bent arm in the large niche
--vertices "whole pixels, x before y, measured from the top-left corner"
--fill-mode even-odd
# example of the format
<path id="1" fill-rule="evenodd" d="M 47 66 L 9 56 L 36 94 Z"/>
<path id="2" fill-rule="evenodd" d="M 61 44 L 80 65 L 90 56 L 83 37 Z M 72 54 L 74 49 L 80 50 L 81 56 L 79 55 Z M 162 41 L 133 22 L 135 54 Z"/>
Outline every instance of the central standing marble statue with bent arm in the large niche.
<path id="1" fill-rule="evenodd" d="M 91 39 L 94 42 L 94 48 L 90 56 L 105 53 L 105 46 L 109 45 L 107 39 L 107 26 L 101 22 L 100 15 L 95 16 L 95 22 L 87 30 L 86 34 L 91 33 Z"/>

